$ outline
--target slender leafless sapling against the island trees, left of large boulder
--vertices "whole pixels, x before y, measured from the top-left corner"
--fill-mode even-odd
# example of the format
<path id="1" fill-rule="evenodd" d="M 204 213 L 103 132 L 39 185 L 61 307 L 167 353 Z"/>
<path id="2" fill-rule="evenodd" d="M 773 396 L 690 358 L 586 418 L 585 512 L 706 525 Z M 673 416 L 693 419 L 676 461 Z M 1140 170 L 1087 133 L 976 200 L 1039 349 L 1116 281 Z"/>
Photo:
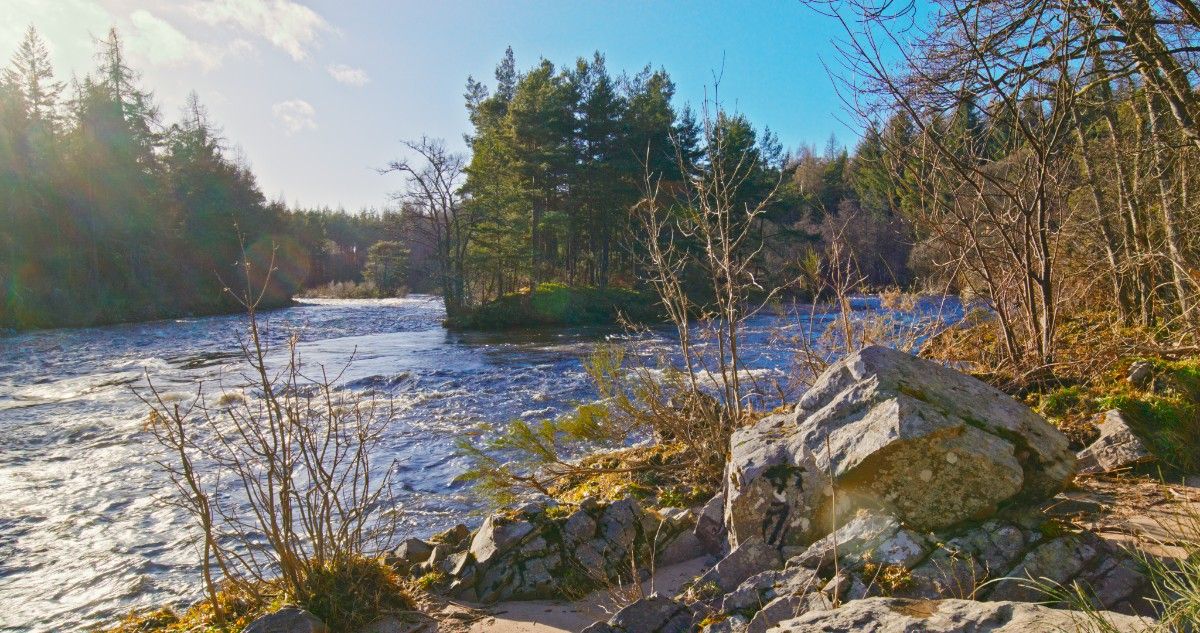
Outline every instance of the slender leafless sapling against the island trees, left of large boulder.
<path id="1" fill-rule="evenodd" d="M 688 380 L 697 392 L 702 378 L 714 384 L 734 423 L 743 420 L 748 397 L 743 326 L 788 284 L 764 288 L 757 275 L 763 249 L 760 223 L 776 200 L 780 182 L 751 200 L 743 199 L 763 165 L 756 151 L 733 147 L 721 125 L 726 115 L 720 101 L 706 101 L 701 164 L 688 164 L 683 151 L 677 151 L 684 182 L 665 192 L 661 175 L 647 173 L 643 198 L 634 211 L 642 229 L 637 239 L 646 253 L 646 277 L 679 332 Z M 695 301 L 688 293 L 684 277 L 690 270 L 706 279 L 706 301 Z M 697 354 L 692 322 L 715 343 L 714 352 Z"/>

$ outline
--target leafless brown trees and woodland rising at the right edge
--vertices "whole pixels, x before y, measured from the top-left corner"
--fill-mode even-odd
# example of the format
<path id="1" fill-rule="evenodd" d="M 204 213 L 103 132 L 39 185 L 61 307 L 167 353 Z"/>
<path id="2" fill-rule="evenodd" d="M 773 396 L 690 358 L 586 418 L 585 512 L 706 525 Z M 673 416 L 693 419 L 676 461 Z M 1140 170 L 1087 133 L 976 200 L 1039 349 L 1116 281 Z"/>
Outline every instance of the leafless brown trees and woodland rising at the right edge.
<path id="1" fill-rule="evenodd" d="M 1087 313 L 1194 344 L 1195 2 L 809 4 L 844 26 L 878 191 L 930 275 L 994 308 L 997 366 L 1052 370 Z"/>

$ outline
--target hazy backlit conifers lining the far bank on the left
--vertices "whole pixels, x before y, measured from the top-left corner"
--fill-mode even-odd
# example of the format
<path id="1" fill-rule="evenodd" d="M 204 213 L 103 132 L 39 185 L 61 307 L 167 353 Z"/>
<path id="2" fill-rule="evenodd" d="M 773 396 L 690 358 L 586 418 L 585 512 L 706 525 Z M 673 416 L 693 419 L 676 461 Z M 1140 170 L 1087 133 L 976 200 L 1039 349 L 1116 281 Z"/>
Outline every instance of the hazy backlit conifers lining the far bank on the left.
<path id="1" fill-rule="evenodd" d="M 268 201 L 194 94 L 162 122 L 116 30 L 67 85 L 32 26 L 0 76 L 0 327 L 235 311 L 240 261 L 252 287 L 275 267 L 263 305 L 280 306 L 410 240 L 395 213 Z"/>

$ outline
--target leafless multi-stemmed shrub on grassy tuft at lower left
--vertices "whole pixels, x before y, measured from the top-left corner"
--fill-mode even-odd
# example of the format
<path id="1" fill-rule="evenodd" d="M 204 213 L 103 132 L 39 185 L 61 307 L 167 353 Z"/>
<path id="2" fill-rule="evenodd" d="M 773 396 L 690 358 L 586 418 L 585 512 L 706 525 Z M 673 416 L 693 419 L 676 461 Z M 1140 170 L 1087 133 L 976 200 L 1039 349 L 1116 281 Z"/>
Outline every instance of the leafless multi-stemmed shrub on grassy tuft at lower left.
<path id="1" fill-rule="evenodd" d="M 256 303 L 244 305 L 236 381 L 221 382 L 211 404 L 203 384 L 181 403 L 148 380 L 139 393 L 150 406 L 148 428 L 166 450 L 158 463 L 178 489 L 175 502 L 196 518 L 212 622 L 236 615 L 224 597 L 260 603 L 270 593 L 341 628 L 341 617 L 377 613 L 388 602 L 380 591 L 403 599 L 370 561 L 390 549 L 398 522 L 389 478 L 372 468 L 394 408 L 338 390 L 324 367 L 305 366 L 296 336 L 280 363 L 269 362 L 276 354 Z"/>

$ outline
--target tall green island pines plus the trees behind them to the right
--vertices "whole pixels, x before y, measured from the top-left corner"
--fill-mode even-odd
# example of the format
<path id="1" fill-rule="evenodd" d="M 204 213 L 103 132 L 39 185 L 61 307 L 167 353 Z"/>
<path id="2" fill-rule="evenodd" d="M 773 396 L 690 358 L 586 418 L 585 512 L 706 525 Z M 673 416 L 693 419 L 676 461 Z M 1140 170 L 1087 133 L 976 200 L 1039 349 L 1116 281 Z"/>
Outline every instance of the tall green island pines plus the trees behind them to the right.
<path id="1" fill-rule="evenodd" d="M 404 176 L 397 198 L 431 246 L 448 313 L 542 282 L 643 284 L 647 248 L 634 209 L 647 175 L 660 192 L 682 193 L 724 170 L 738 174 L 733 207 L 769 197 L 754 217 L 764 282 L 796 277 L 835 235 L 852 243 L 870 283 L 910 281 L 907 228 L 881 193 L 883 165 L 863 155 L 875 145 L 851 153 L 830 139 L 823 153 L 785 152 L 769 128 L 720 107 L 697 116 L 674 92 L 665 70 L 614 77 L 600 53 L 520 71 L 508 49 L 492 86 L 468 78 L 469 156 L 422 138 L 385 170 Z"/>

